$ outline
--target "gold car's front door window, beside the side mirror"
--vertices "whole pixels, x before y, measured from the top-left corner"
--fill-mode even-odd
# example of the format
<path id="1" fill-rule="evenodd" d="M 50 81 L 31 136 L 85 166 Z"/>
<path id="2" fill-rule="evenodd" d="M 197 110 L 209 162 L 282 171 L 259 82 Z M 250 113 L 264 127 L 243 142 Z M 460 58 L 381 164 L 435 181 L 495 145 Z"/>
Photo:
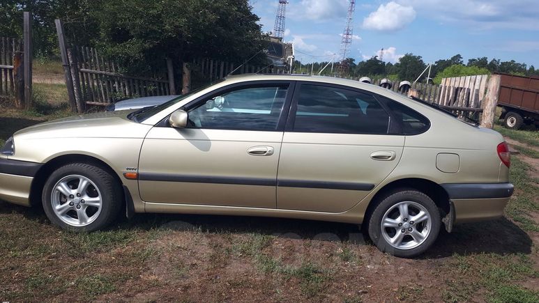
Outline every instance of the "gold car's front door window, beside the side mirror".
<path id="1" fill-rule="evenodd" d="M 286 98 L 284 87 L 250 87 L 205 100 L 189 111 L 188 127 L 276 130 Z"/>

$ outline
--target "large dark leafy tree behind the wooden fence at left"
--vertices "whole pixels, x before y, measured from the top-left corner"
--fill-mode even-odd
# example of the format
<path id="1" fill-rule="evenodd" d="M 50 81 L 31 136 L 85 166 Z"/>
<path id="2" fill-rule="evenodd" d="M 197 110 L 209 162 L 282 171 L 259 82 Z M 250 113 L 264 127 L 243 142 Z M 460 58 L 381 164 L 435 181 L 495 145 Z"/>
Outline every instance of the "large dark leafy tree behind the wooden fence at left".
<path id="1" fill-rule="evenodd" d="M 162 68 L 165 58 L 243 61 L 267 36 L 247 0 L 99 0 L 97 45 L 131 72 Z"/>

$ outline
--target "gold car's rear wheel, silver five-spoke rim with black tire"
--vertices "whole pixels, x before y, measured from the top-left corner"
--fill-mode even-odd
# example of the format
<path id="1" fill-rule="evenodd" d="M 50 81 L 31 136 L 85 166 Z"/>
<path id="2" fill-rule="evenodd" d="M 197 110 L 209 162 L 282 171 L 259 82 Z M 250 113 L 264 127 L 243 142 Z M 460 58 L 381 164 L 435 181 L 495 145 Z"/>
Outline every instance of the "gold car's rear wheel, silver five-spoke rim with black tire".
<path id="1" fill-rule="evenodd" d="M 440 226 L 440 212 L 429 196 L 415 189 L 399 189 L 381 199 L 374 208 L 368 233 L 380 251 L 411 258 L 434 244 Z"/>

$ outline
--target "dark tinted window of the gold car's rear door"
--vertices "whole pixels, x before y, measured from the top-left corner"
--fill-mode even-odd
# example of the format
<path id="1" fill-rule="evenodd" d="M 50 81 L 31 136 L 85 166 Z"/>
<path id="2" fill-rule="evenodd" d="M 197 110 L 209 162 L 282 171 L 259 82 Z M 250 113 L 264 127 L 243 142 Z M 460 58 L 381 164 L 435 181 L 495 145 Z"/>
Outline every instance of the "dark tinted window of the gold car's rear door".
<path id="1" fill-rule="evenodd" d="M 386 134 L 388 125 L 388 114 L 372 95 L 329 86 L 301 86 L 296 132 Z"/>

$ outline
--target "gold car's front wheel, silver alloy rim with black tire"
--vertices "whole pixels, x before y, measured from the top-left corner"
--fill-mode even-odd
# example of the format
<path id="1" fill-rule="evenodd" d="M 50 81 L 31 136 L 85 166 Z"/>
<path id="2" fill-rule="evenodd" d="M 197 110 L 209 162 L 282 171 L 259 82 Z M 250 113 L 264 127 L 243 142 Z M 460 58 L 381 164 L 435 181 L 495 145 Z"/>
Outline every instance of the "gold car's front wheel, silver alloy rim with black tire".
<path id="1" fill-rule="evenodd" d="M 73 163 L 51 173 L 41 200 L 52 224 L 84 232 L 112 224 L 121 210 L 122 197 L 119 182 L 107 170 Z"/>

